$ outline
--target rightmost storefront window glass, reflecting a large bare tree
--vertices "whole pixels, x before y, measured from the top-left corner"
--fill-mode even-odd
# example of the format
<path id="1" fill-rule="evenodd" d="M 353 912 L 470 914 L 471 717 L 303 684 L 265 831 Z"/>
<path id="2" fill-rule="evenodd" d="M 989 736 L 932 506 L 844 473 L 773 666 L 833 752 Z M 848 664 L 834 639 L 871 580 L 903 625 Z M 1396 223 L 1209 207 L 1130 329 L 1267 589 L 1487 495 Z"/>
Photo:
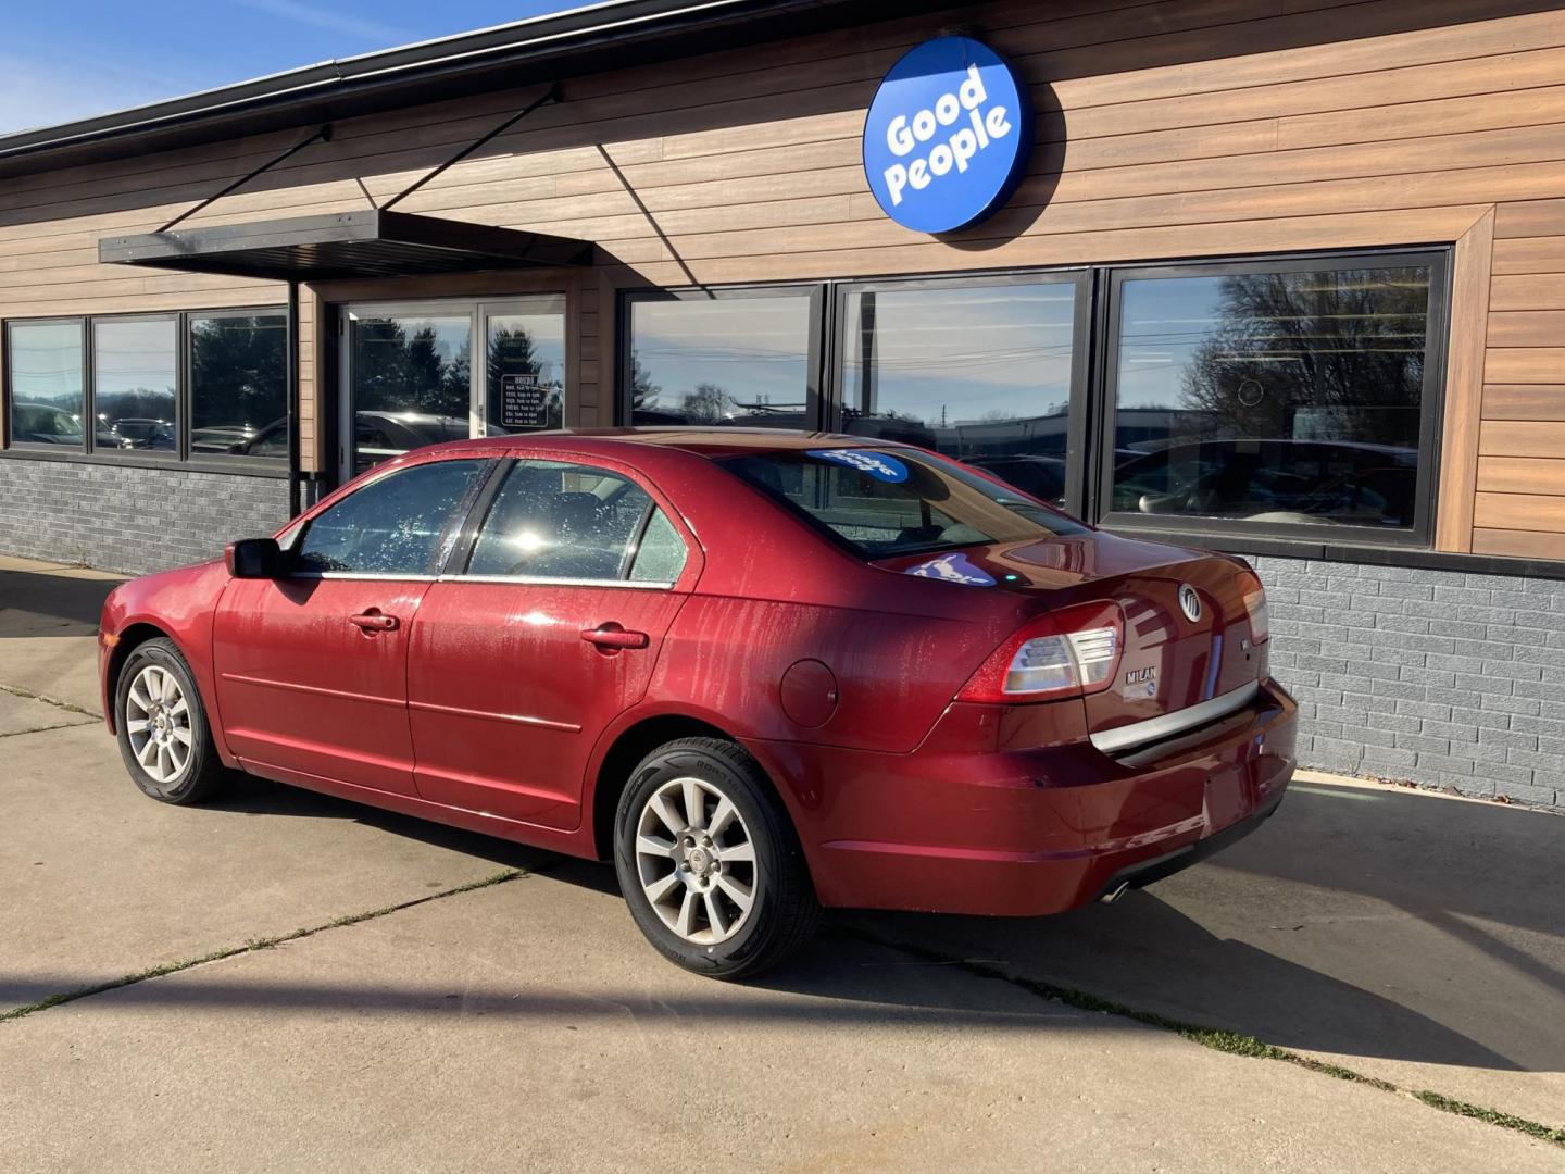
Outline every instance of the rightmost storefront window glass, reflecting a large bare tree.
<path id="1" fill-rule="evenodd" d="M 1108 510 L 1412 529 L 1430 272 L 1357 263 L 1127 277 Z"/>

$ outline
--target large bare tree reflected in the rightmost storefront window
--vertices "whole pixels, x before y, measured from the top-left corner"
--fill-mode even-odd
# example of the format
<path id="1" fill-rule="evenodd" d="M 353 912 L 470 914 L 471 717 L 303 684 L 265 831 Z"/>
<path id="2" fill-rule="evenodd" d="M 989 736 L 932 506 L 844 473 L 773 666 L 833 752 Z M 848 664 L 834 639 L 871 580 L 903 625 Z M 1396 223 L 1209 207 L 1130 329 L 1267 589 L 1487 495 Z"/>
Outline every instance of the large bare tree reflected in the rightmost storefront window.
<path id="1" fill-rule="evenodd" d="M 1424 269 L 1235 274 L 1183 373 L 1233 437 L 1418 446 Z"/>

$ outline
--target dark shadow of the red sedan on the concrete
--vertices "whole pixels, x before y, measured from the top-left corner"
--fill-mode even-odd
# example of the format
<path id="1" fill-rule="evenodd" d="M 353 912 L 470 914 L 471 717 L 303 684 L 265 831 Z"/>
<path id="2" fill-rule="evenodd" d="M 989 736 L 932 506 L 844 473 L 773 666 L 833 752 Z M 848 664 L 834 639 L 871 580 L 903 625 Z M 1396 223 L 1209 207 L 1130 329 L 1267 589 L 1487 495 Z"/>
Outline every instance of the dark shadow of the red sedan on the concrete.
<path id="1" fill-rule="evenodd" d="M 263 780 L 218 806 L 357 819 L 546 883 L 617 891 L 606 864 Z M 908 1010 L 895 992 L 914 989 L 920 1014 L 961 1019 L 980 1010 L 966 983 L 889 986 L 886 975 L 967 971 L 1034 999 L 1081 992 L 1290 1049 L 1565 1071 L 1562 848 L 1554 816 L 1296 786 L 1255 836 L 1114 906 L 1024 920 L 831 911 L 820 938 L 756 986 L 878 1003 L 892 1017 Z M 870 947 L 895 956 L 865 963 Z"/>

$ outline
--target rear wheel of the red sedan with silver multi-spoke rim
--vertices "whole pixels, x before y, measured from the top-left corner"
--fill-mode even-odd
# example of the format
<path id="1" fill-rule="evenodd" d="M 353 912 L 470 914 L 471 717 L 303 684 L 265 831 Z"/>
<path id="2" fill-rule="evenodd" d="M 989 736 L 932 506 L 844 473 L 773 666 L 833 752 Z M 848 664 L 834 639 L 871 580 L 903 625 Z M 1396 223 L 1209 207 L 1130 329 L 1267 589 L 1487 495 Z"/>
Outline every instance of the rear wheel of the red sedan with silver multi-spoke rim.
<path id="1" fill-rule="evenodd" d="M 732 742 L 685 737 L 642 759 L 620 797 L 613 862 L 642 933 L 696 974 L 759 974 L 815 928 L 793 825 Z"/>

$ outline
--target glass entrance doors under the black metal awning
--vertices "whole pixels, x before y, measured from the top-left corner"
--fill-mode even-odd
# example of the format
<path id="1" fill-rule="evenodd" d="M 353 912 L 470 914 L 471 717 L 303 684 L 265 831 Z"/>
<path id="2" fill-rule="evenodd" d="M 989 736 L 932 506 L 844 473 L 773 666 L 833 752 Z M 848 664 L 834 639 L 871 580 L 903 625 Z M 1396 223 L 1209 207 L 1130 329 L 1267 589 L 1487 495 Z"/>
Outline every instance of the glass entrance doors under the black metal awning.
<path id="1" fill-rule="evenodd" d="M 562 426 L 563 294 L 343 313 L 344 481 L 424 445 Z"/>

